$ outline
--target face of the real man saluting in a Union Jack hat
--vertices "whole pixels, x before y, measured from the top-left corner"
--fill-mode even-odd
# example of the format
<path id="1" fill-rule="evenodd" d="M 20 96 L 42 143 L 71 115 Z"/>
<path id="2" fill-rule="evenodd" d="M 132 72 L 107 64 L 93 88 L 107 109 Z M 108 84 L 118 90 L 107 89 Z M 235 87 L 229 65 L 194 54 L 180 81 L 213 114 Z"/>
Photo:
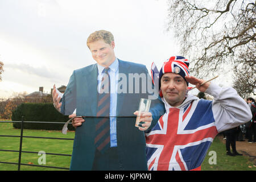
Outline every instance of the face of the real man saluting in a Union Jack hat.
<path id="1" fill-rule="evenodd" d="M 161 78 L 161 90 L 168 104 L 176 107 L 185 99 L 187 82 L 176 73 L 165 73 Z"/>

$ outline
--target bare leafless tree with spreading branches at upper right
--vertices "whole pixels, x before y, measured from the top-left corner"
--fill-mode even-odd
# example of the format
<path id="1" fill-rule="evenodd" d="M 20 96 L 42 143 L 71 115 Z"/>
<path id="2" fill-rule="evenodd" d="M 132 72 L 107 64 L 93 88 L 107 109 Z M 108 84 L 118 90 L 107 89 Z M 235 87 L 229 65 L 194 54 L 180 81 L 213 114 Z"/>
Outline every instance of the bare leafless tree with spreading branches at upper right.
<path id="1" fill-rule="evenodd" d="M 255 0 L 168 2 L 167 30 L 175 32 L 181 52 L 192 61 L 193 75 L 229 69 L 234 79 L 250 76 L 245 86 L 255 88 Z"/>

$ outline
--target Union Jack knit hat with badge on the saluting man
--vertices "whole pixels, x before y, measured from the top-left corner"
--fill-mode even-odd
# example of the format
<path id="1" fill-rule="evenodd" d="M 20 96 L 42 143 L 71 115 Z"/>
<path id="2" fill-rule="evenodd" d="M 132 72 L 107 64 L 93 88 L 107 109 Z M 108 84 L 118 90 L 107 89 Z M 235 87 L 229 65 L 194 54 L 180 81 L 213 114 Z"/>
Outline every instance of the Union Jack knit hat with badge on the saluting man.
<path id="1" fill-rule="evenodd" d="M 164 62 L 163 67 L 160 69 L 159 72 L 159 95 L 163 97 L 161 88 L 161 78 L 164 73 L 176 73 L 179 74 L 181 77 L 185 79 L 185 76 L 189 76 L 188 71 L 189 61 L 182 56 L 171 56 L 166 62 Z M 187 82 L 188 85 L 188 82 Z"/>

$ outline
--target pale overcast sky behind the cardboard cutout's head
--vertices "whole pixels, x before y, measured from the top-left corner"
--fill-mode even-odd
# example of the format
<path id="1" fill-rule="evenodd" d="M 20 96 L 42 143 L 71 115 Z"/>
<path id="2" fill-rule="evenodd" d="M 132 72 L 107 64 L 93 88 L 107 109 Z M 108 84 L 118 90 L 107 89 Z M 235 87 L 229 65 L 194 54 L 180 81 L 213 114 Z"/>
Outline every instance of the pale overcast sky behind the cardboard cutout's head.
<path id="1" fill-rule="evenodd" d="M 148 71 L 186 57 L 166 31 L 167 9 L 164 0 L 0 0 L 0 98 L 67 85 L 74 69 L 96 63 L 86 46 L 96 30 L 113 33 L 119 59 Z"/>

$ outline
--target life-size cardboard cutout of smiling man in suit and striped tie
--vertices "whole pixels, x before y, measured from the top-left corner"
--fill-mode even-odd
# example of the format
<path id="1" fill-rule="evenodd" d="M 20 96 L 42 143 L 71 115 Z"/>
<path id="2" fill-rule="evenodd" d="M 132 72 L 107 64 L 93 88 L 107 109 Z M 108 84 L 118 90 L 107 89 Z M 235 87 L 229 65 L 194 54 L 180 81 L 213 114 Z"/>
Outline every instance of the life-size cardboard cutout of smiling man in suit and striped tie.
<path id="1" fill-rule="evenodd" d="M 53 89 L 57 110 L 69 118 L 82 116 L 72 119 L 76 135 L 71 170 L 147 170 L 144 130 L 162 114 L 144 113 L 135 127 L 134 111 L 148 93 L 135 92 L 136 85 L 143 90 L 142 82 L 126 82 L 131 75 L 147 75 L 147 69 L 117 59 L 109 31 L 90 34 L 87 46 L 97 64 L 75 70 L 61 100 Z"/>

